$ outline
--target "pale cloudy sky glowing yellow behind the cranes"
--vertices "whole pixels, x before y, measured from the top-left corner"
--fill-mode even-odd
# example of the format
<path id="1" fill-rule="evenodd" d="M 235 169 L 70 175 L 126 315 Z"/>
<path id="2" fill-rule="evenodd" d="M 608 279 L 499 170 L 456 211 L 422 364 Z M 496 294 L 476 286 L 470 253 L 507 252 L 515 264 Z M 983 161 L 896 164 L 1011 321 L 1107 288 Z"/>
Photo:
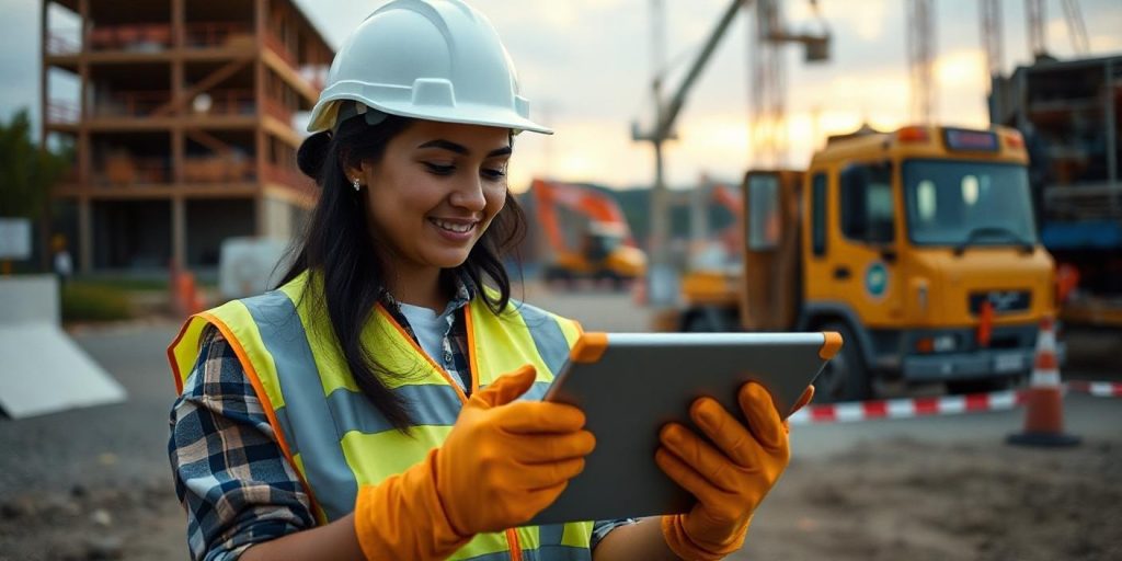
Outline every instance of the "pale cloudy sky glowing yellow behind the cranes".
<path id="1" fill-rule="evenodd" d="M 338 46 L 356 22 L 384 1 L 295 0 Z M 524 134 L 515 144 L 511 184 L 532 177 L 592 182 L 620 188 L 654 180 L 650 144 L 632 140 L 632 123 L 650 122 L 651 0 L 473 0 L 509 50 L 532 118 L 552 127 L 550 137 Z M 666 83 L 677 88 L 727 0 L 663 0 Z M 831 31 L 830 62 L 806 65 L 801 49 L 787 47 L 787 130 L 783 164 L 804 166 L 827 135 L 863 122 L 892 129 L 910 122 L 904 0 L 819 0 Z M 984 127 L 985 58 L 975 0 L 934 0 L 936 21 L 935 120 Z M 1059 58 L 1074 56 L 1059 0 L 1046 0 L 1047 44 Z M 1122 54 L 1122 0 L 1083 0 L 1093 56 Z M 783 1 L 793 30 L 819 29 L 809 0 Z M 37 0 L 0 0 L 0 118 L 30 108 L 38 119 Z M 1023 2 L 1005 0 L 1005 72 L 1030 61 Z M 765 162 L 748 141 L 749 19 L 737 16 L 678 119 L 677 141 L 666 145 L 672 187 L 702 175 L 737 182 Z M 55 82 L 52 82 L 55 90 Z M 65 86 L 58 86 L 63 91 Z"/>

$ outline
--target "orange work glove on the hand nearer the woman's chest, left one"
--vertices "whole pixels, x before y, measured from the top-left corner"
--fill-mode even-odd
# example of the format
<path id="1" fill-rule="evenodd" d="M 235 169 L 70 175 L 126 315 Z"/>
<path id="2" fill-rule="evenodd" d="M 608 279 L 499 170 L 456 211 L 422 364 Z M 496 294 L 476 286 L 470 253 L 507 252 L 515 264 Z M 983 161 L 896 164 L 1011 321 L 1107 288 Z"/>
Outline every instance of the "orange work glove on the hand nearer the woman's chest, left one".
<path id="1" fill-rule="evenodd" d="M 477 392 L 440 448 L 359 489 L 355 532 L 367 559 L 445 559 L 475 534 L 528 521 L 585 469 L 596 439 L 580 410 L 515 402 L 534 378 L 527 365 Z"/>

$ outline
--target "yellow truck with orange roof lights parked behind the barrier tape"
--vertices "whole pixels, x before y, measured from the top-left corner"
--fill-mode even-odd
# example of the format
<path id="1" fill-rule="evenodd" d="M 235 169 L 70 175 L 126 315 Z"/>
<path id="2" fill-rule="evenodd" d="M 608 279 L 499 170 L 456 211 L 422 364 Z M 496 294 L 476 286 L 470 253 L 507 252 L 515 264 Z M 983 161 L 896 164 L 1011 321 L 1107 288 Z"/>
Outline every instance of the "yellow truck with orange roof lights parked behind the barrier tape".
<path id="1" fill-rule="evenodd" d="M 1015 130 L 932 126 L 834 137 L 804 172 L 748 172 L 743 267 L 688 276 L 671 322 L 840 332 L 821 401 L 890 379 L 1004 386 L 1056 307 L 1027 162 Z"/>

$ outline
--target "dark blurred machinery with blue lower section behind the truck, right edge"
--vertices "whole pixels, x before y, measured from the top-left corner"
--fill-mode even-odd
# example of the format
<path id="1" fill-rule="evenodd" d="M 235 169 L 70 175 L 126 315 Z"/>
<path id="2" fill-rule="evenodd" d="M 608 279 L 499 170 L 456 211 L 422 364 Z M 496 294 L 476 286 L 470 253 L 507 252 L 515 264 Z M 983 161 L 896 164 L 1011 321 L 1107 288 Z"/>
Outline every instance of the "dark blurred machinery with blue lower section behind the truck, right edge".
<path id="1" fill-rule="evenodd" d="M 1122 329 L 1122 56 L 1039 57 L 995 77 L 990 119 L 1024 134 L 1045 247 L 1078 286 L 1068 324 Z"/>

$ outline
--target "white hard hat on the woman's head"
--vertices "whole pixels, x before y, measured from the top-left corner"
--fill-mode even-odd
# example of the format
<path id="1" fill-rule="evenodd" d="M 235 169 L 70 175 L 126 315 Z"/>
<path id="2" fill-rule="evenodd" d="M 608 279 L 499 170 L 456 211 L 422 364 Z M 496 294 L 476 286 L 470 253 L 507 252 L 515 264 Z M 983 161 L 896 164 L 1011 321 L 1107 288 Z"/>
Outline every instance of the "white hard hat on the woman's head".
<path id="1" fill-rule="evenodd" d="M 366 18 L 335 54 L 309 132 L 366 112 L 347 100 L 399 117 L 553 132 L 530 120 L 498 34 L 461 0 L 395 0 Z"/>

